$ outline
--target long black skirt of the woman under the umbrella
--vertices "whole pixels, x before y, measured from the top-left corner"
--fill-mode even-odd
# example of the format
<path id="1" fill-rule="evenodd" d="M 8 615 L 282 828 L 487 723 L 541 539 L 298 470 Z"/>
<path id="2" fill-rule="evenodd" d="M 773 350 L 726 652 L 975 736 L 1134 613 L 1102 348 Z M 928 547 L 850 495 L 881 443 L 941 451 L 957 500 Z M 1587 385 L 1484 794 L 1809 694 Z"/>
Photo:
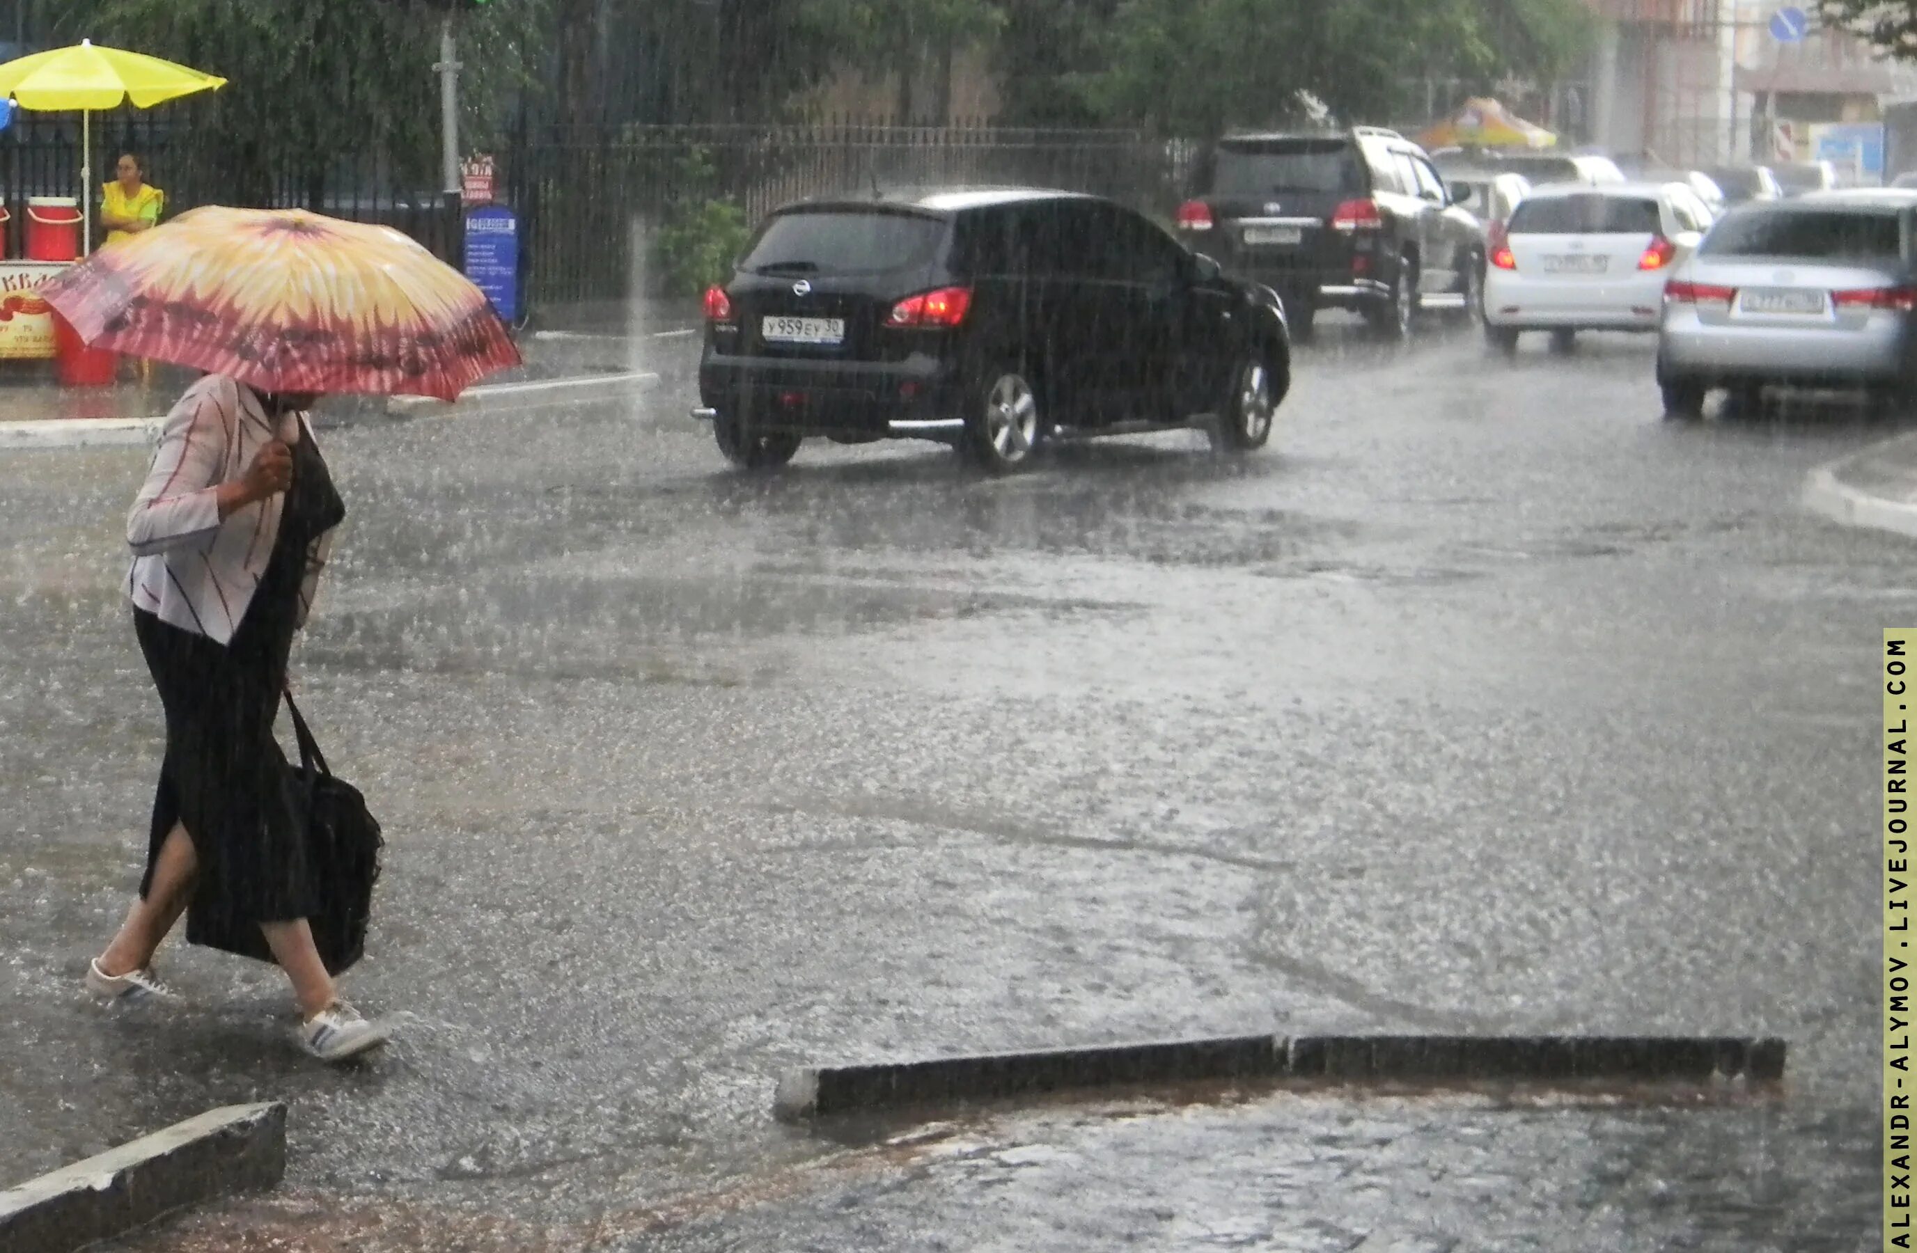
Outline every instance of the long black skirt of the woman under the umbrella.
<path id="1" fill-rule="evenodd" d="M 318 910 L 305 820 L 288 789 L 286 753 L 272 736 L 291 623 L 286 613 L 249 611 L 232 644 L 220 646 L 134 609 L 134 632 L 167 709 L 167 757 L 140 897 L 153 887 L 167 833 L 184 826 L 199 862 L 188 943 L 270 960 L 259 923 Z"/>

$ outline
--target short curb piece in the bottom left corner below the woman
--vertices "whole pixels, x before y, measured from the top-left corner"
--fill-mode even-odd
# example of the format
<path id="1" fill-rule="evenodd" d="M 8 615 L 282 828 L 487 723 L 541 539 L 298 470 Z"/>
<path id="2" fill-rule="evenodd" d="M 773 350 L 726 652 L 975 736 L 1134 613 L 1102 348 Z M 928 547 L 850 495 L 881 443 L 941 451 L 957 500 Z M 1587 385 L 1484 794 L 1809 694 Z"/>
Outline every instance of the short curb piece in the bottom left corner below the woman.
<path id="1" fill-rule="evenodd" d="M 67 1253 L 286 1176 L 286 1105 L 224 1105 L 0 1192 L 0 1253 Z"/>

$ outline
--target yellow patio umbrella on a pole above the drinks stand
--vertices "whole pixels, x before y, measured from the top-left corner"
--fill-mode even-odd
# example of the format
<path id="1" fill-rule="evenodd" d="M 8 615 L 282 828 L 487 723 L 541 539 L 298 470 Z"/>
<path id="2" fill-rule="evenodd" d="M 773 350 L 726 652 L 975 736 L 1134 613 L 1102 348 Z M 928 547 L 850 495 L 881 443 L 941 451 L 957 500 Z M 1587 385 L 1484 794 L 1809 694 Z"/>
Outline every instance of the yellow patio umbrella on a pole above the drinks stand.
<path id="1" fill-rule="evenodd" d="M 36 113 L 81 113 L 81 251 L 94 234 L 94 134 L 92 115 L 117 109 L 128 100 L 136 109 L 211 92 L 226 79 L 203 75 L 186 65 L 161 61 L 142 52 L 107 48 L 82 38 L 71 48 L 35 52 L 0 65 L 0 96 Z"/>

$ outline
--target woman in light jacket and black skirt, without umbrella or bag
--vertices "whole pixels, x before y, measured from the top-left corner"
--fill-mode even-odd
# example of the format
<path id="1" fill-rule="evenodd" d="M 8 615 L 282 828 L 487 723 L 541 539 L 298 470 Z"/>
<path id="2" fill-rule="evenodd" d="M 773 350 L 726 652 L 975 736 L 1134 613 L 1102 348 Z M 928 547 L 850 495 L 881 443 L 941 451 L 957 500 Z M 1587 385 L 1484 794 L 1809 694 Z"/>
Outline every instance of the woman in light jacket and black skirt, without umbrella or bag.
<path id="1" fill-rule="evenodd" d="M 293 983 L 299 1042 L 341 1061 L 387 1038 L 339 1000 L 307 920 L 320 910 L 307 816 L 272 736 L 293 632 L 305 626 L 345 504 L 312 439 L 311 395 L 261 395 L 220 374 L 167 416 L 127 519 L 134 634 L 167 711 L 140 899 L 94 958 L 104 1000 L 171 996 L 153 950 L 257 925 Z"/>

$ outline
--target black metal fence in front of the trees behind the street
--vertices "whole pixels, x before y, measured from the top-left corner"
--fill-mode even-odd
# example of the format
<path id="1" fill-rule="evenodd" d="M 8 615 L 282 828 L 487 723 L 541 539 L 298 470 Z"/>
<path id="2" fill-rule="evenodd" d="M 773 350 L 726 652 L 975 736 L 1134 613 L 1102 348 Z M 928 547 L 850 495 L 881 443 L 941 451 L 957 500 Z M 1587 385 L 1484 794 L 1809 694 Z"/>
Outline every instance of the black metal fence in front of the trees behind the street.
<path id="1" fill-rule="evenodd" d="M 100 195 L 121 151 L 144 157 L 148 182 L 167 192 L 169 216 L 205 203 L 297 205 L 395 226 L 443 257 L 458 245 L 458 222 L 441 205 L 437 165 L 426 155 L 355 153 L 324 171 L 261 169 L 245 153 L 196 142 L 194 103 L 182 102 L 96 115 L 90 195 Z M 654 232 L 709 199 L 738 205 L 755 222 L 794 199 L 874 186 L 1037 184 L 1167 213 L 1192 146 L 1133 130 L 820 121 L 521 130 L 495 157 L 500 197 L 521 222 L 521 305 L 537 308 L 646 291 Z M 75 195 L 79 167 L 77 119 L 27 115 L 0 132 L 12 255 L 25 243 L 23 199 Z"/>

